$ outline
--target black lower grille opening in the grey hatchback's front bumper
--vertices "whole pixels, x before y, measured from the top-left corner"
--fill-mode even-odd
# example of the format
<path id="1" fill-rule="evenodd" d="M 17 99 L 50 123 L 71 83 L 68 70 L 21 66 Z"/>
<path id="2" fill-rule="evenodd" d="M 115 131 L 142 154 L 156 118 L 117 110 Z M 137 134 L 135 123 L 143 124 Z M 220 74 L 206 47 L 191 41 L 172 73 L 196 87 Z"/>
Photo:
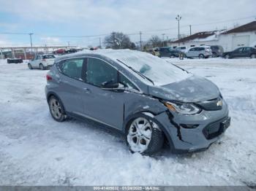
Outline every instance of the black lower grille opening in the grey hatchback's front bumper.
<path id="1" fill-rule="evenodd" d="M 203 128 L 203 135 L 206 139 L 214 139 L 215 137 L 221 135 L 230 126 L 230 117 L 225 117 L 225 119 L 213 122 Z"/>

